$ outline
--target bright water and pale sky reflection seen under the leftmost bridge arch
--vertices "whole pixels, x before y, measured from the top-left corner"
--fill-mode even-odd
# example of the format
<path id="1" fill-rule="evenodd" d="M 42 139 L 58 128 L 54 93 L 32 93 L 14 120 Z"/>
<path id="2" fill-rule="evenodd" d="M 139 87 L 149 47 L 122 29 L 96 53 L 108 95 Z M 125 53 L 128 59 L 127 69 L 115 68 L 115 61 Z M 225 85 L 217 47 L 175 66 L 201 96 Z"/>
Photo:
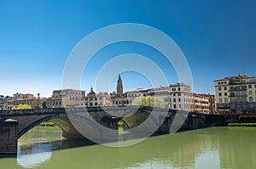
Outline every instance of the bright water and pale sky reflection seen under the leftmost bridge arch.
<path id="1" fill-rule="evenodd" d="M 45 161 L 49 161 L 52 150 L 60 147 L 60 142 L 50 141 L 59 138 L 61 138 L 61 129 L 58 127 L 33 128 L 19 139 L 17 151 L 18 165 L 25 168 L 42 166 Z"/>

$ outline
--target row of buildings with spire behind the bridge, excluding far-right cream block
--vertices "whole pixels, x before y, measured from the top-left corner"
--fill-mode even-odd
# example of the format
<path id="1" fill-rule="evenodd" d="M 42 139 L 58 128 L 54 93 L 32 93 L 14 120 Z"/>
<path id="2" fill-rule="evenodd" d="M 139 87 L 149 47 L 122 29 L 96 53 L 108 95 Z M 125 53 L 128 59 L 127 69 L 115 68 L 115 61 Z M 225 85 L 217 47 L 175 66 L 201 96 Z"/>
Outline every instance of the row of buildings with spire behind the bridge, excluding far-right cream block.
<path id="1" fill-rule="evenodd" d="M 0 100 L 0 109 L 10 110 L 19 104 L 29 104 L 32 109 L 61 107 L 125 106 L 139 96 L 154 96 L 165 102 L 166 108 L 189 110 L 206 114 L 215 113 L 214 96 L 191 93 L 191 87 L 182 82 L 168 87 L 137 89 L 123 93 L 123 82 L 119 76 L 117 92 L 95 93 L 93 88 L 85 94 L 83 90 L 54 90 L 50 98 L 34 97 L 33 94 L 15 93 L 13 97 Z"/>

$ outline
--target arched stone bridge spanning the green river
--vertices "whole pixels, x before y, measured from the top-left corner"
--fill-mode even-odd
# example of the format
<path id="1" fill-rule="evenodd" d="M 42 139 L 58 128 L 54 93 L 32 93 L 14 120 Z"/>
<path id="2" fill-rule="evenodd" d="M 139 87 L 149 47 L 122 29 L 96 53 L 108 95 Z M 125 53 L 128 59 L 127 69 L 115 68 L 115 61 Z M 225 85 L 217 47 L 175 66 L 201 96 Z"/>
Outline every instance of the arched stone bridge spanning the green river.
<path id="1" fill-rule="evenodd" d="M 125 130 L 129 130 L 139 126 L 147 119 L 149 119 L 148 124 L 150 125 L 144 127 L 144 130 L 148 129 L 150 131 L 151 127 L 155 126 L 158 128 L 157 132 L 170 132 L 177 110 L 154 108 L 154 112 L 158 114 L 157 116 L 151 115 L 152 110 L 151 107 L 143 106 L 2 110 L 0 111 L 0 154 L 15 154 L 17 140 L 44 121 L 55 122 L 57 126 L 61 127 L 62 136 L 66 138 L 84 138 L 78 132 L 79 125 L 76 124 L 87 124 L 85 127 L 82 126 L 83 131 L 91 132 L 90 135 L 102 139 L 104 137 L 109 138 L 109 135 L 104 136 L 106 133 L 103 133 L 101 127 L 96 124 L 108 129 L 115 129 L 109 130 L 111 131 L 109 134 L 116 135 L 118 134 L 118 121 L 124 121 Z M 178 115 L 179 118 L 184 120 L 181 129 L 186 130 L 206 125 L 205 115 L 189 113 L 189 118 L 187 118 L 187 115 L 182 115 L 182 113 Z M 158 124 L 159 118 L 163 119 L 162 124 Z"/>

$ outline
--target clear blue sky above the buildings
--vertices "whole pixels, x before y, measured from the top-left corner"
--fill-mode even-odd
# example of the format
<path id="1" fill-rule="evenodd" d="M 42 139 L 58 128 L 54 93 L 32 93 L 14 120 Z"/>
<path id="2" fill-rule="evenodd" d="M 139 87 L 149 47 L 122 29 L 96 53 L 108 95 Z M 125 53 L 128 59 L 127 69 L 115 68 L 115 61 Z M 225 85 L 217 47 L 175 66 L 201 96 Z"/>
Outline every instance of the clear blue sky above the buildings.
<path id="1" fill-rule="evenodd" d="M 253 0 L 0 0 L 0 94 L 49 96 L 61 88 L 62 71 L 77 43 L 92 31 L 119 23 L 150 25 L 172 37 L 189 62 L 194 92 L 214 93 L 213 80 L 256 76 L 255 8 Z M 95 86 L 93 77 L 108 59 L 127 53 L 147 56 L 160 65 L 168 82 L 178 81 L 157 51 L 123 42 L 96 54 L 84 70 L 82 89 Z M 121 76 L 125 90 L 150 87 L 134 72 Z M 115 82 L 107 92 L 115 90 Z"/>

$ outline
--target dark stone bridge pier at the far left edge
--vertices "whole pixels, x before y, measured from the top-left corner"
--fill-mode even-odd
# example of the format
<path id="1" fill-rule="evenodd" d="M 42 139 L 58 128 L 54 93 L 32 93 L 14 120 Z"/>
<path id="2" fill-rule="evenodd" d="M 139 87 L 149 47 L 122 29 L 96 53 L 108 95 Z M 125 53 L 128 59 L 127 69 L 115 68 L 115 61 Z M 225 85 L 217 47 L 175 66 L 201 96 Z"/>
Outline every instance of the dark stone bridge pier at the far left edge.
<path id="1" fill-rule="evenodd" d="M 13 119 L 0 120 L 0 154 L 17 154 L 17 127 L 19 122 Z"/>

